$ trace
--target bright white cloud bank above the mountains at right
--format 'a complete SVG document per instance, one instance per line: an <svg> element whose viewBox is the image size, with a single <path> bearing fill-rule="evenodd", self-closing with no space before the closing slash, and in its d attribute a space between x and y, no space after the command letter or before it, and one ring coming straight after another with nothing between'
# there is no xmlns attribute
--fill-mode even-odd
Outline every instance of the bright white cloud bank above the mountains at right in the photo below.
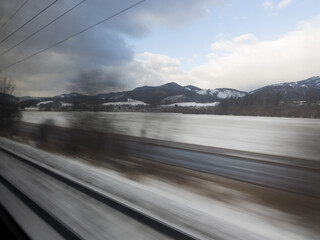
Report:
<svg viewBox="0 0 320 240"><path fill-rule="evenodd" d="M182 70L178 59L144 53L122 68L125 73L122 78L133 86L174 81L202 88L229 87L250 91L268 84L319 75L318 39L320 15L301 22L297 29L273 40L262 41L249 33L214 42L207 63L190 71Z"/></svg>

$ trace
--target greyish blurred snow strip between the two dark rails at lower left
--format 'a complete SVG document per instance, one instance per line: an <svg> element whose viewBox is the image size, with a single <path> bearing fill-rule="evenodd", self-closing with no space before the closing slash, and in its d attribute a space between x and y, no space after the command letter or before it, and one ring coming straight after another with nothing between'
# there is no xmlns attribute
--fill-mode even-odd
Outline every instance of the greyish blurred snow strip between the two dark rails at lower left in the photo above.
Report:
<svg viewBox="0 0 320 240"><path fill-rule="evenodd" d="M0 173L3 177L19 186L33 201L83 239L168 239L41 171L3 153L0 153L0 157Z"/></svg>

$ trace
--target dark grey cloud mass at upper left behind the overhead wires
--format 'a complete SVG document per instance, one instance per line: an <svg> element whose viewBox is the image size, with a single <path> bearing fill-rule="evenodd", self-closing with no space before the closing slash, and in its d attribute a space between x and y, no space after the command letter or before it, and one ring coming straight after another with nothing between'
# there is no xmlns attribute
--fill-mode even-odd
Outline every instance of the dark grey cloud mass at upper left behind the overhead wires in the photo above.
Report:
<svg viewBox="0 0 320 240"><path fill-rule="evenodd" d="M113 74L110 76L119 79L119 81L127 79L120 71L123 66L132 68L134 65L139 65L143 72L146 66L144 67L142 63L138 64L134 60L133 46L128 44L130 39L146 36L155 25L179 28L190 24L208 14L208 5L220 1L146 1L136 8L61 45L6 69L4 74L10 75L16 81L15 94L17 95L44 96L60 94L70 91L70 87L74 86L76 78L90 79L92 76L97 77L98 82L105 81L105 87L102 90L106 91L116 89L116 87L125 89L135 86L134 84L137 83L137 80L123 81L115 86L114 82L110 81L110 78L101 76L102 73L110 73ZM51 2L52 0L29 1L13 21L1 29L1 32L12 32ZM0 53L78 2L79 0L57 1L45 13L0 44ZM65 37L136 2L135 0L86 1L74 11L47 27L45 31L40 32L19 47L1 56L0 68L61 41ZM0 16L4 17L2 21L5 21L16 8L16 1L2 0L0 2ZM152 58L154 61L157 59L151 56L147 58ZM147 63L145 62L145 64ZM158 78L160 79L159 76ZM140 81L143 82L143 79L146 79L146 77L142 77Z"/></svg>

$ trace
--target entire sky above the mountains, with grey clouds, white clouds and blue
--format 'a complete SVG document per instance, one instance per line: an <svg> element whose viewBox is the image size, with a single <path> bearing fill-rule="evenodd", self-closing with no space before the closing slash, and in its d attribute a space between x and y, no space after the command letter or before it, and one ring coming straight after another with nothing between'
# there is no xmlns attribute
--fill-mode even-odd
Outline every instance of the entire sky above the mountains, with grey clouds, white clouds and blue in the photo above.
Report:
<svg viewBox="0 0 320 240"><path fill-rule="evenodd" d="M318 0L146 0L19 62L139 2L85 0L22 41L81 2L29 0L10 19L25 1L0 3L0 69L17 96L168 82L251 91L320 75Z"/></svg>

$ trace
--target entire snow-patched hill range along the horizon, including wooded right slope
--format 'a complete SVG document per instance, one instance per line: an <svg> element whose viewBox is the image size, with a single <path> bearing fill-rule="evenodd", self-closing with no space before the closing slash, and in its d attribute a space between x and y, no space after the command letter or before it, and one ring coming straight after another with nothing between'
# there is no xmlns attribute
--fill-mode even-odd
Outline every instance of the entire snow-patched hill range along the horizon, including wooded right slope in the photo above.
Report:
<svg viewBox="0 0 320 240"><path fill-rule="evenodd" d="M272 84L249 93L231 88L201 89L193 85L180 86L171 82L161 86L143 86L131 91L101 93L95 96L69 93L45 98L22 97L20 107L41 107L41 110L112 111L114 108L110 106L133 106L125 104L129 101L141 102L140 105L144 108L158 105L171 106L170 111L184 113L320 117L320 77ZM193 105L203 106L202 108L207 106L209 109L194 110ZM213 109L215 105L217 106ZM109 108L106 109L106 106ZM134 108L130 108L131 110Z"/></svg>

